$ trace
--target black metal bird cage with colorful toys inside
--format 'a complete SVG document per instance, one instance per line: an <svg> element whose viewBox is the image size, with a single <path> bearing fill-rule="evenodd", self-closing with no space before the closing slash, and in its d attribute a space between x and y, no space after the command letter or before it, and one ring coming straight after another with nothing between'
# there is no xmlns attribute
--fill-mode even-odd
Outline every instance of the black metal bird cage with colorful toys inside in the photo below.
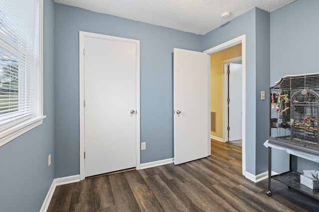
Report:
<svg viewBox="0 0 319 212"><path fill-rule="evenodd" d="M270 88L270 142L318 154L318 109L319 73L281 78Z"/></svg>

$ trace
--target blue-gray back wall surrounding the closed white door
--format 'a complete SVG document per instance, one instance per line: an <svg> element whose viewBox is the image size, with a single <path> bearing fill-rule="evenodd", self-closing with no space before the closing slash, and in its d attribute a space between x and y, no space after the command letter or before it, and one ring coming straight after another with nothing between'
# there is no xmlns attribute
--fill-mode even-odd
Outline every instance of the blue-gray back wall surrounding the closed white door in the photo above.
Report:
<svg viewBox="0 0 319 212"><path fill-rule="evenodd" d="M55 3L55 177L79 174L79 31L140 40L141 163L173 157L173 48L202 36Z"/></svg>

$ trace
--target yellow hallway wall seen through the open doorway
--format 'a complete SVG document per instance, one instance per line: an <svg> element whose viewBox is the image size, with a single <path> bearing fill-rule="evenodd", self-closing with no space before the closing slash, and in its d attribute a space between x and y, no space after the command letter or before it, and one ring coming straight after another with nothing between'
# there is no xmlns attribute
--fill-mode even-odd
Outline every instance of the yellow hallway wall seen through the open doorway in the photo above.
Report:
<svg viewBox="0 0 319 212"><path fill-rule="evenodd" d="M223 61L241 56L241 44L210 55L210 109L216 112L215 132L211 135L223 138Z"/></svg>

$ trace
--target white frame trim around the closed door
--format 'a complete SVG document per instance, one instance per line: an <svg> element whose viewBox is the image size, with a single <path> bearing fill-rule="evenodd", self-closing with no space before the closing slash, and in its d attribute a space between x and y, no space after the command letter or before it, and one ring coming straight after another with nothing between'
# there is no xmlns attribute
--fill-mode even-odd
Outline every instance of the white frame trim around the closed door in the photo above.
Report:
<svg viewBox="0 0 319 212"><path fill-rule="evenodd" d="M84 139L84 38L107 39L120 42L129 42L136 44L136 169L140 169L141 155L141 106L140 106L140 41L122 37L115 37L91 32L79 31L79 117L80 117L80 180L85 179L85 139Z"/></svg>

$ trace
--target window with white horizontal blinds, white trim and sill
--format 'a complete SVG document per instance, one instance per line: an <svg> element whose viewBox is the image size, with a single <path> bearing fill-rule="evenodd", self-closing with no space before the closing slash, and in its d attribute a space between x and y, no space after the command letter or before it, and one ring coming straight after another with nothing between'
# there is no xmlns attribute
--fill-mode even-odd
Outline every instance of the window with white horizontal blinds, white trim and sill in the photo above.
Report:
<svg viewBox="0 0 319 212"><path fill-rule="evenodd" d="M0 146L42 123L43 0L1 0Z"/></svg>

